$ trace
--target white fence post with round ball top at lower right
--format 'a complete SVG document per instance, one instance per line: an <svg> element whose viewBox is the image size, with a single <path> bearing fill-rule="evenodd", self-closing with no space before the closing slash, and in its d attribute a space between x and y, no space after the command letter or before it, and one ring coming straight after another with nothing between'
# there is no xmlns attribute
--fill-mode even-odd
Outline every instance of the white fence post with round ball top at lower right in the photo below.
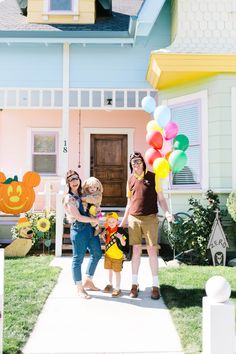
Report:
<svg viewBox="0 0 236 354"><path fill-rule="evenodd" d="M229 300L231 288L226 279L214 276L206 283L202 312L202 353L235 354L235 306Z"/></svg>

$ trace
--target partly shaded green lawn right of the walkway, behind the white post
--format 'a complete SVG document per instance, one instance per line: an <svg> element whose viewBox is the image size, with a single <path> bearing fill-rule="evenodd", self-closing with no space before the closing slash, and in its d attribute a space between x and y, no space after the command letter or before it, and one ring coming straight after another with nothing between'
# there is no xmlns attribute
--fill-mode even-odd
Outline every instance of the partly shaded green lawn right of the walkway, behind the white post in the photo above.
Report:
<svg viewBox="0 0 236 354"><path fill-rule="evenodd" d="M236 305L236 270L230 267L181 266L160 270L161 294L171 311L185 353L202 351L202 297L205 284L221 275L231 285L231 300Z"/></svg>

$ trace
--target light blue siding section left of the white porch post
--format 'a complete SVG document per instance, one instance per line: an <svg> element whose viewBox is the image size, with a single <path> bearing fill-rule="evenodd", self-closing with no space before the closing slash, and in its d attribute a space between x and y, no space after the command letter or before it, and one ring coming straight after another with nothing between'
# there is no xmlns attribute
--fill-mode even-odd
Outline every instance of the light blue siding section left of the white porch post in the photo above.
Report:
<svg viewBox="0 0 236 354"><path fill-rule="evenodd" d="M0 87L61 87L62 45L0 44Z"/></svg>

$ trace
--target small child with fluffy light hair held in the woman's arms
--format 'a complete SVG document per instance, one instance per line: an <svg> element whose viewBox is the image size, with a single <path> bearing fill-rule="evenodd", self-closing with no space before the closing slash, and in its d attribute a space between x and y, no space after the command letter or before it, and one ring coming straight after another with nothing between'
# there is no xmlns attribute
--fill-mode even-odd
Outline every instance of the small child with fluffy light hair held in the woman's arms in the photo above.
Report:
<svg viewBox="0 0 236 354"><path fill-rule="evenodd" d="M95 177L89 177L82 185L82 202L84 210L87 210L89 216L94 218L102 217L101 202L102 202L103 187L101 182ZM94 236L97 236L100 232L100 227L96 223L93 224L95 231Z"/></svg>

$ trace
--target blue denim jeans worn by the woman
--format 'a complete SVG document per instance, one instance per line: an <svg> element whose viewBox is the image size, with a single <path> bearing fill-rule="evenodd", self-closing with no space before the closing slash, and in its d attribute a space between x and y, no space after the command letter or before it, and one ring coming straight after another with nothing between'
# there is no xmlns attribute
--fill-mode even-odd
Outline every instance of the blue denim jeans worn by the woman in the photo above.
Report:
<svg viewBox="0 0 236 354"><path fill-rule="evenodd" d="M74 222L71 225L70 237L73 250L72 276L76 284L82 281L81 266L86 251L90 253L86 275L92 277L102 257L102 250L99 236L94 236L93 228L89 223Z"/></svg>

